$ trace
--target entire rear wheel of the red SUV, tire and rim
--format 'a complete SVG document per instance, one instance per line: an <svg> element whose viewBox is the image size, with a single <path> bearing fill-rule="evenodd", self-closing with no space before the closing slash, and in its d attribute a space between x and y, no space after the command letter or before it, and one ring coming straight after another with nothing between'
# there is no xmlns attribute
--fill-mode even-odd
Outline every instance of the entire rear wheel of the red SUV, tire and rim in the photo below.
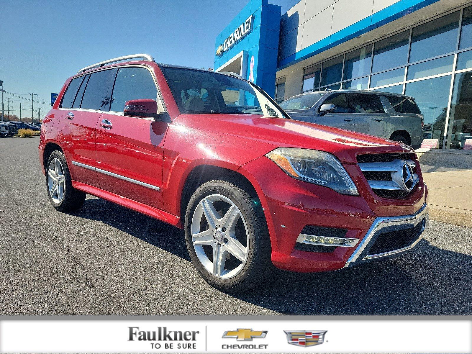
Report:
<svg viewBox="0 0 472 354"><path fill-rule="evenodd" d="M46 187L49 200L58 211L74 211L85 201L85 194L72 186L66 158L59 150L51 153L46 168Z"/></svg>

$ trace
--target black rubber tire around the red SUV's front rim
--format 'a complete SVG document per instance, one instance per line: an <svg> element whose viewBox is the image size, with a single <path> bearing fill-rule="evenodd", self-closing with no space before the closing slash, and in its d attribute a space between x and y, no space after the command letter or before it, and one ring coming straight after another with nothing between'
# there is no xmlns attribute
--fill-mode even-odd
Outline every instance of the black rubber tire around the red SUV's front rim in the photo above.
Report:
<svg viewBox="0 0 472 354"><path fill-rule="evenodd" d="M247 260L242 270L233 278L214 276L202 265L192 243L191 223L196 207L208 195L221 194L236 204L244 217L248 230ZM194 267L203 279L219 290L243 292L260 286L275 268L270 260L271 247L267 222L259 202L239 186L223 180L213 180L201 185L190 198L185 213L185 242Z"/></svg>

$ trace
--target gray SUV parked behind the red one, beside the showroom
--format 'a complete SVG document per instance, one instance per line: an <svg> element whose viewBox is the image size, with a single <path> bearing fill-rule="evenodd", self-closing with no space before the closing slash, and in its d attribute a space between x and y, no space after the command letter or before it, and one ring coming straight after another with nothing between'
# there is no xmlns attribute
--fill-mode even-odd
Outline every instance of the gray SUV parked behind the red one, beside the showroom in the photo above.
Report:
<svg viewBox="0 0 472 354"><path fill-rule="evenodd" d="M423 115L414 99L402 94L316 91L293 96L280 106L296 120L375 135L413 149L423 141Z"/></svg>

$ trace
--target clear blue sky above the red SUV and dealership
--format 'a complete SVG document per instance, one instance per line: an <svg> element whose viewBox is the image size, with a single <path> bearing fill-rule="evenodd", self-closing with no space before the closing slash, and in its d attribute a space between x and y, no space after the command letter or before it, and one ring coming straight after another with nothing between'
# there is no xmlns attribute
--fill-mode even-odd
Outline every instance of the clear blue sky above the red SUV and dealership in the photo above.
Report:
<svg viewBox="0 0 472 354"><path fill-rule="evenodd" d="M269 0L287 12L299 0ZM149 53L158 62L213 67L215 38L247 0L0 1L0 80L11 93L50 101L87 65ZM20 95L31 98L30 96ZM31 102L11 97L10 113L31 117ZM50 106L35 104L44 116ZM27 110L29 109L29 110ZM1 111L1 102L0 102ZM35 113L37 118L37 113Z"/></svg>

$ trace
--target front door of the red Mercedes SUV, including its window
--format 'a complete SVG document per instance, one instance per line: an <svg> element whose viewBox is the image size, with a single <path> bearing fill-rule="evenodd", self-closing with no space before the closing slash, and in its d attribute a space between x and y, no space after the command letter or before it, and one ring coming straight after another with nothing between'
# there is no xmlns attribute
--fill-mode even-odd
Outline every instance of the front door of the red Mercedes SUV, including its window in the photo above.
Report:
<svg viewBox="0 0 472 354"><path fill-rule="evenodd" d="M157 85L145 67L120 67L110 105L97 122L97 173L109 192L163 209L162 163L168 124L152 118L125 117L125 102L158 101Z"/></svg>

